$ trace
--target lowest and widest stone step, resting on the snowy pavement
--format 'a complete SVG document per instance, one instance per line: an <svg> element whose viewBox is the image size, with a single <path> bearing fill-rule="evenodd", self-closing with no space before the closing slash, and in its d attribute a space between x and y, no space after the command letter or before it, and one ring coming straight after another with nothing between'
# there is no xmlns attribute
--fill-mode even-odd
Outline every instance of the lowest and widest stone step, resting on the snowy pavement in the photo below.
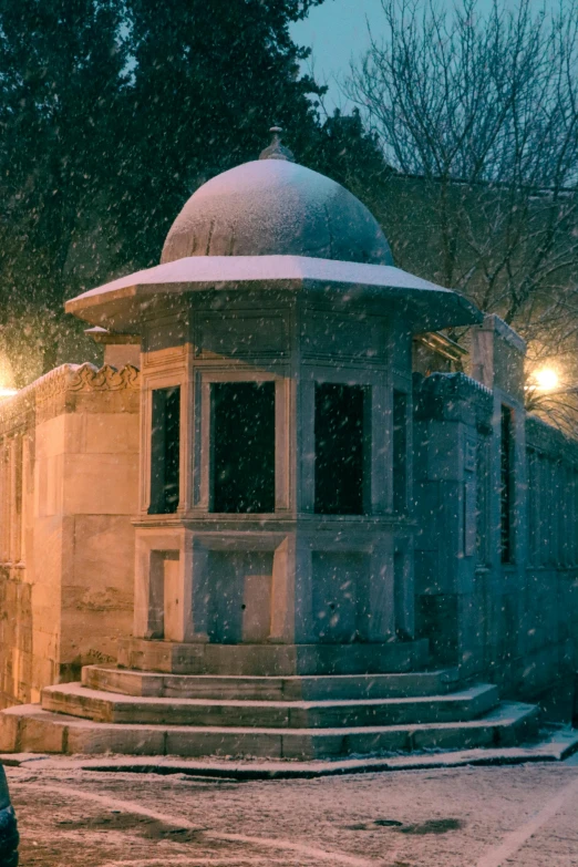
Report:
<svg viewBox="0 0 578 867"><path fill-rule="evenodd" d="M38 704L0 713L0 752L121 755L337 758L421 750L515 746L538 731L538 708L500 702L460 723L344 729L254 729L97 723L43 711Z"/></svg>

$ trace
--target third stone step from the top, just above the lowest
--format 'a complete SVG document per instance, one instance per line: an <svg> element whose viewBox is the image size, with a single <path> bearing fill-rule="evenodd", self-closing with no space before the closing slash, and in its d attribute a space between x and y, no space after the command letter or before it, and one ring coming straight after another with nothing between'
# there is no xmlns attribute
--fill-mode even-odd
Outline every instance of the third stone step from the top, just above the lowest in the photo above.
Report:
<svg viewBox="0 0 578 867"><path fill-rule="evenodd" d="M497 688L489 684L445 695L314 702L120 696L86 689L81 683L47 687L42 691L43 710L94 722L275 729L472 720L495 708L497 702Z"/></svg>

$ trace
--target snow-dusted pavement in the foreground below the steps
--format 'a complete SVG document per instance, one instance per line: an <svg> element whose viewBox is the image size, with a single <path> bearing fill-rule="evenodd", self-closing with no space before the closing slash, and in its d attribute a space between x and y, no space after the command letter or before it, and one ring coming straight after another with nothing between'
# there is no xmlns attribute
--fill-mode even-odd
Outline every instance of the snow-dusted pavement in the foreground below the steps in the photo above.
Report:
<svg viewBox="0 0 578 867"><path fill-rule="evenodd" d="M22 867L570 867L578 756L236 782L7 767Z"/></svg>

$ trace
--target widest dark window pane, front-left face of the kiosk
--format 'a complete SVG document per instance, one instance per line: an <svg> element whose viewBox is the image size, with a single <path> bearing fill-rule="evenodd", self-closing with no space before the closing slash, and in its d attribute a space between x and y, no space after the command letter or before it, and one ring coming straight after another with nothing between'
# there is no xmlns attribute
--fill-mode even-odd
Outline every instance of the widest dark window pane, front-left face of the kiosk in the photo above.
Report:
<svg viewBox="0 0 578 867"><path fill-rule="evenodd" d="M213 512L275 512L275 383L213 385Z"/></svg>

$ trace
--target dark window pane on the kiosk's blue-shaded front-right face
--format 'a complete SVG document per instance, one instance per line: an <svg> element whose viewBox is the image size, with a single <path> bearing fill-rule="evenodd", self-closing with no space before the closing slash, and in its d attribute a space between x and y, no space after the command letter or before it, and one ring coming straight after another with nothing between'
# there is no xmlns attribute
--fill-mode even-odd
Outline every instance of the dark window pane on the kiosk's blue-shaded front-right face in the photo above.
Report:
<svg viewBox="0 0 578 867"><path fill-rule="evenodd" d="M363 514L363 388L316 385L316 513Z"/></svg>

